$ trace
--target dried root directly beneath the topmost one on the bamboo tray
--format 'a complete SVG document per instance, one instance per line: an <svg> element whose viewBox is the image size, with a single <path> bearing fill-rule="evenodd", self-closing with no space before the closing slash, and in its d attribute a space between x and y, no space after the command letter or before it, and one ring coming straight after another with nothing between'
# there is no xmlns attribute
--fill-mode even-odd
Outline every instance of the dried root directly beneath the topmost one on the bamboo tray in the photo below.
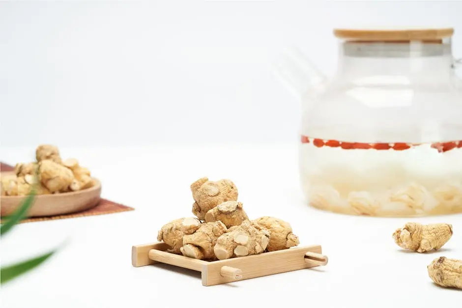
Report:
<svg viewBox="0 0 462 308"><path fill-rule="evenodd" d="M242 222L249 220L242 206L242 202L239 201L225 201L220 203L205 214L205 222L212 223L221 221L227 228L242 224Z"/></svg>

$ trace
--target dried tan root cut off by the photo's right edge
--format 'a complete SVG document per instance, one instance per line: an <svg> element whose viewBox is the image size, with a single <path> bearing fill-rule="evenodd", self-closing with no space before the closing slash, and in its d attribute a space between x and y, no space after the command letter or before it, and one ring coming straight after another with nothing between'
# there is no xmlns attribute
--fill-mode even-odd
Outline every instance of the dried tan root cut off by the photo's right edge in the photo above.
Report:
<svg viewBox="0 0 462 308"><path fill-rule="evenodd" d="M444 256L436 258L427 266L428 275L434 283L449 288L462 289L462 261Z"/></svg>

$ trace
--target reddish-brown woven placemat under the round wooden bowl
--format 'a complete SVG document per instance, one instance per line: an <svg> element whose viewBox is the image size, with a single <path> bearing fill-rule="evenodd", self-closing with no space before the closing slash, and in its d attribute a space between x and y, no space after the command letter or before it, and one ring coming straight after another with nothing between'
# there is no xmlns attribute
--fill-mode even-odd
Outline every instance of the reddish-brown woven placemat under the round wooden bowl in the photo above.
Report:
<svg viewBox="0 0 462 308"><path fill-rule="evenodd" d="M12 171L14 170L14 167L0 162L0 170L1 171ZM55 220L55 219L66 219L66 218L76 218L76 217L84 217L84 216L113 214L113 213L133 211L133 210L134 210L133 207L129 207L129 206L126 206L120 203L116 203L111 200L101 199L98 205L86 211L66 214L66 215L58 215L58 216L32 217L32 218L28 218L28 219L21 221L21 223L32 223L32 222L41 222L41 221Z"/></svg>

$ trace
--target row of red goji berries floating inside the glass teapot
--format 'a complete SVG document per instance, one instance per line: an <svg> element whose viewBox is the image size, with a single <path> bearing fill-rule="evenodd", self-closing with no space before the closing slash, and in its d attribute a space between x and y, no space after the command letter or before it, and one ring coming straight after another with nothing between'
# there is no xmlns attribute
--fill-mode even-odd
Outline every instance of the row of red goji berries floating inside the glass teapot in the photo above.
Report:
<svg viewBox="0 0 462 308"><path fill-rule="evenodd" d="M301 136L302 143L313 143L316 147L341 147L345 150L354 150L354 149L374 149L374 150L394 150L394 151L404 151L411 149L421 143L406 143L406 142L395 142L395 143L364 143L364 142L345 142L339 140L323 140L319 138L311 138L308 136ZM457 141L445 141L445 142L434 142L431 145L433 148L437 149L439 152L444 153L455 148L462 148L462 140Z"/></svg>

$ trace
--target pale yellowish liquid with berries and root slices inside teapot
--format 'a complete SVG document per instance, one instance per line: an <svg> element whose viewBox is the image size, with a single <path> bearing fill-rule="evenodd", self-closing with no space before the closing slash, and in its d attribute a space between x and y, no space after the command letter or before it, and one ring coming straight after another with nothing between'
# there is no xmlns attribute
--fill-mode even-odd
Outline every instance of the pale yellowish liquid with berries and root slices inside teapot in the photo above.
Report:
<svg viewBox="0 0 462 308"><path fill-rule="evenodd" d="M310 205L332 212L413 217L462 212L462 141L342 145L302 137Z"/></svg>

